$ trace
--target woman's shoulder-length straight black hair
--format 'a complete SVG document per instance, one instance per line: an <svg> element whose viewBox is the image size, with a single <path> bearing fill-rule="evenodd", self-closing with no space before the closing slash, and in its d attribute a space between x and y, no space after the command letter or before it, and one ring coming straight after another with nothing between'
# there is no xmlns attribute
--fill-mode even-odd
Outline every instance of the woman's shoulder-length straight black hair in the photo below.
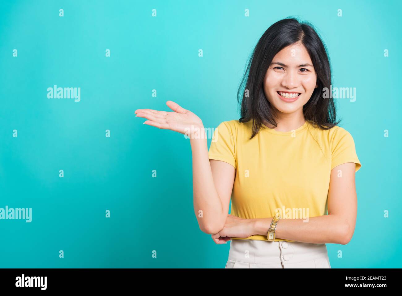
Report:
<svg viewBox="0 0 402 296"><path fill-rule="evenodd" d="M298 41L301 41L310 55L318 83L311 98L303 106L305 119L313 121L321 129L330 129L340 122L336 121L332 96L322 96L324 87L330 89L331 84L331 66L326 46L313 25L291 17L271 25L258 40L238 88L237 98L241 108L239 122L252 120L251 138L258 133L264 121L277 127L271 103L265 97L264 77L274 56L284 47Z"/></svg>

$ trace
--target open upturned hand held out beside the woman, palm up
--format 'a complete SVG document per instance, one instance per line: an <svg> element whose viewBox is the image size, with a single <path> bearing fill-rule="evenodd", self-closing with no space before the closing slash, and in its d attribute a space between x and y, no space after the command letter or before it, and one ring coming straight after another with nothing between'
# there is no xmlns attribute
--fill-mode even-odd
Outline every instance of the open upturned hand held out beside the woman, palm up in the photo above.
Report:
<svg viewBox="0 0 402 296"><path fill-rule="evenodd" d="M170 129L180 134L185 134L191 127L203 127L201 119L193 112L180 107L173 101L167 101L166 105L173 112L158 111L153 109L137 109L135 110L136 117L144 117L144 123L159 127L161 129Z"/></svg>

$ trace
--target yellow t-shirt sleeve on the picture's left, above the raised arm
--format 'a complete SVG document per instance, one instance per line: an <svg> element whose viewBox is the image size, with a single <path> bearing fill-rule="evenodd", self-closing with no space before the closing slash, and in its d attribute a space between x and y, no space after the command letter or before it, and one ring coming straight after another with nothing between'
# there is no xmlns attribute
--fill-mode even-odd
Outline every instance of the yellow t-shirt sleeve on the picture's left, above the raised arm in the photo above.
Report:
<svg viewBox="0 0 402 296"><path fill-rule="evenodd" d="M236 152L232 128L224 121L215 128L208 151L209 159L221 160L236 169Z"/></svg>

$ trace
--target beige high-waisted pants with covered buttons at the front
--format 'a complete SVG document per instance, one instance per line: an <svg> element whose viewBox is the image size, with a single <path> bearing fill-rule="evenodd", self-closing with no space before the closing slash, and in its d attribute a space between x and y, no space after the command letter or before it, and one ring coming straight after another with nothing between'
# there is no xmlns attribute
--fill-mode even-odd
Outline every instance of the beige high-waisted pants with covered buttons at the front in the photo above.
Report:
<svg viewBox="0 0 402 296"><path fill-rule="evenodd" d="M232 239L225 268L331 268L325 244Z"/></svg>

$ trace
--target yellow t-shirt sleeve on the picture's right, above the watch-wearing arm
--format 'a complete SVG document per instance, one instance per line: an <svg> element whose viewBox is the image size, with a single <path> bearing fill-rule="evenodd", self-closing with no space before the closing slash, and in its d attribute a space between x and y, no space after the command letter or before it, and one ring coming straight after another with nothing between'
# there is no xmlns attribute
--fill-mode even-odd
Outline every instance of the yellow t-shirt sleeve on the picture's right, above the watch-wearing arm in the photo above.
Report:
<svg viewBox="0 0 402 296"><path fill-rule="evenodd" d="M361 168L359 158L357 158L355 141L352 135L343 127L339 127L332 140L332 162L331 170L346 162L354 162L356 164L355 172Z"/></svg>

